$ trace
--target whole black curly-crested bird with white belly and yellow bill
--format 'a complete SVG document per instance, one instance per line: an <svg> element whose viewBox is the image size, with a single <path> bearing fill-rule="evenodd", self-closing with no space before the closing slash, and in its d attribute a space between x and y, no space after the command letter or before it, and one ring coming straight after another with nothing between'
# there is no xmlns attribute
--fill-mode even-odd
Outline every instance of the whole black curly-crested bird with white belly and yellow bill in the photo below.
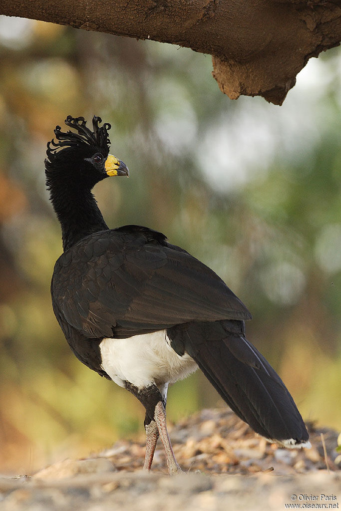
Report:
<svg viewBox="0 0 341 511"><path fill-rule="evenodd" d="M51 283L53 310L76 357L136 396L146 409L150 469L161 436L168 470L180 470L166 427L168 385L197 367L257 433L285 447L309 435L287 388L246 339L251 314L210 268L166 236L138 225L109 229L91 192L128 176L109 153L109 124L69 115L54 130L47 187L61 224L63 253Z"/></svg>

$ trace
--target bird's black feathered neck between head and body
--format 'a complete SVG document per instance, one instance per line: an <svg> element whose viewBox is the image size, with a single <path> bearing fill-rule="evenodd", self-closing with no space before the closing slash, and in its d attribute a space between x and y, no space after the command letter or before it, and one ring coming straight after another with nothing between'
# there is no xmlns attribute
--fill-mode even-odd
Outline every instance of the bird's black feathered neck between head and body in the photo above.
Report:
<svg viewBox="0 0 341 511"><path fill-rule="evenodd" d="M58 188L50 188L50 198L61 225L64 252L85 236L109 228L90 190L74 185Z"/></svg>

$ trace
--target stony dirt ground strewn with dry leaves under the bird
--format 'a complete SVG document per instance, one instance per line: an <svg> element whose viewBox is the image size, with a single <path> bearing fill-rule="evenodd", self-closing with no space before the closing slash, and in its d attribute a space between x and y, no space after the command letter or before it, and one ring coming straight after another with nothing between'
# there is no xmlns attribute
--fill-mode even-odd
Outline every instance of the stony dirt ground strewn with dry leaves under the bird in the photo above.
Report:
<svg viewBox="0 0 341 511"><path fill-rule="evenodd" d="M168 476L161 446L152 471L143 472L144 439L121 440L87 459L66 459L30 476L0 478L0 509L337 509L337 433L312 424L308 429L310 450L285 450L266 443L228 409L202 410L170 428L184 474Z"/></svg>

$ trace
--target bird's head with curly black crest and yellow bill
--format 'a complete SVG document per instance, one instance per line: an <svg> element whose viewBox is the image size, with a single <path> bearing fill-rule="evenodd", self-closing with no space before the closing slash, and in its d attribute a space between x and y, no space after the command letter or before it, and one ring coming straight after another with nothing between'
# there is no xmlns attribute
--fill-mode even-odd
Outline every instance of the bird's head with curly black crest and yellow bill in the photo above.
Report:
<svg viewBox="0 0 341 511"><path fill-rule="evenodd" d="M48 143L45 160L47 185L51 187L55 179L64 184L75 183L91 190L94 185L109 176L129 176L123 161L109 154L110 124L102 126L100 117L93 118L93 129L86 126L83 117L68 115L65 124L72 128L66 133L60 126L54 130L56 141Z"/></svg>

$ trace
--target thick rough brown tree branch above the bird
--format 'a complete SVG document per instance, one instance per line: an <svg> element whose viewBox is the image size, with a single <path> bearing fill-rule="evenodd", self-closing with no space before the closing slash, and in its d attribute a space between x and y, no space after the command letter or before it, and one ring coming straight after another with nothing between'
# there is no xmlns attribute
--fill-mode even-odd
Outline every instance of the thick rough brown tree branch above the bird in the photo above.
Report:
<svg viewBox="0 0 341 511"><path fill-rule="evenodd" d="M310 57L341 40L340 0L6 0L0 14L168 42L212 55L231 99L282 104Z"/></svg>

